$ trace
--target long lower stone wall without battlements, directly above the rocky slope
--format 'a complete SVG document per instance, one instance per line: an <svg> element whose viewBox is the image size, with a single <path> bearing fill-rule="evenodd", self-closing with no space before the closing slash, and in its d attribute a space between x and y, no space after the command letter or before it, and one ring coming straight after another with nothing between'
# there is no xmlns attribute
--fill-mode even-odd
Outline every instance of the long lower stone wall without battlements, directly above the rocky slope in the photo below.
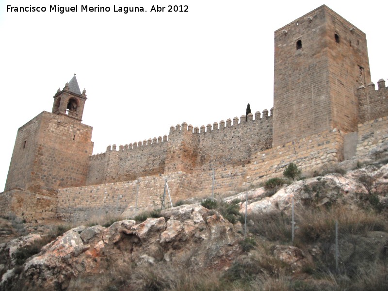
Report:
<svg viewBox="0 0 388 291"><path fill-rule="evenodd" d="M328 131L275 149L256 152L249 164L216 167L215 193L230 193L239 187L258 184L272 176L281 176L284 167L290 162L297 163L302 170L338 162L341 160L341 149L341 133ZM173 203L211 194L211 171L197 169L193 174L178 171L133 181L59 189L58 215L65 221L79 222L123 212L129 217L144 210L160 208L165 178L168 179ZM165 205L170 205L168 196Z"/></svg>

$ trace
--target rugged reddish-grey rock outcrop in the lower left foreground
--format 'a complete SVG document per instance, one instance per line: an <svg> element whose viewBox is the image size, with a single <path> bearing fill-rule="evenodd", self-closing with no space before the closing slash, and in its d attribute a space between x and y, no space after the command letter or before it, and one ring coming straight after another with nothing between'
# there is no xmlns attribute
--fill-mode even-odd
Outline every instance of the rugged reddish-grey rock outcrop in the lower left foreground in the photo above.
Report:
<svg viewBox="0 0 388 291"><path fill-rule="evenodd" d="M168 264L193 271L224 269L240 253L241 236L216 211L182 205L161 214L140 224L123 220L109 227L72 228L28 259L22 270L10 269L0 287L15 288L11 284L19 279L26 290L100 290L98 279L86 284L85 278Z"/></svg>

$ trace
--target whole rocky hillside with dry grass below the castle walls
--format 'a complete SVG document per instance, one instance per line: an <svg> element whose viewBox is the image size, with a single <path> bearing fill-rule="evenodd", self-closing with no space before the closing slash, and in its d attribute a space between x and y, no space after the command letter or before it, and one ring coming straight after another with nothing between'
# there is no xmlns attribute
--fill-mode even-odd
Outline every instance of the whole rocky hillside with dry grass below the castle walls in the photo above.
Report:
<svg viewBox="0 0 388 291"><path fill-rule="evenodd" d="M0 289L388 290L388 164L344 166L143 222L65 231L3 219Z"/></svg>

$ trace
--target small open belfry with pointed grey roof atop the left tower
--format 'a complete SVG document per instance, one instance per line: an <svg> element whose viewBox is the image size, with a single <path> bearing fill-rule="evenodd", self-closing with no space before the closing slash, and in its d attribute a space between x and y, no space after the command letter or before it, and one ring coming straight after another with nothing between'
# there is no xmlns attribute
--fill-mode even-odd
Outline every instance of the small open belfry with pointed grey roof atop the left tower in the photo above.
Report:
<svg viewBox="0 0 388 291"><path fill-rule="evenodd" d="M86 99L86 91L83 90L81 93L76 74L74 74L70 82L65 84L65 88L63 90L58 89L57 94L54 95L54 104L51 112L82 121Z"/></svg>

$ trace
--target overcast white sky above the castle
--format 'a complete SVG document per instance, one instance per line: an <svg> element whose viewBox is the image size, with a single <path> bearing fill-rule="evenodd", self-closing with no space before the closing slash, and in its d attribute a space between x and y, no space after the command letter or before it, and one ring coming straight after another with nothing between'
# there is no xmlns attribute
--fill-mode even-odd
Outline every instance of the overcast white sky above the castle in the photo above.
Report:
<svg viewBox="0 0 388 291"><path fill-rule="evenodd" d="M265 4L264 4L265 3ZM362 4L361 4L362 3ZM274 31L326 4L367 34L372 81L388 78L388 1L0 0L0 191L17 129L74 73L94 153L273 106ZM12 6L77 13L10 13ZM81 5L111 12L80 12ZM186 13L120 13L113 5L188 5Z"/></svg>

